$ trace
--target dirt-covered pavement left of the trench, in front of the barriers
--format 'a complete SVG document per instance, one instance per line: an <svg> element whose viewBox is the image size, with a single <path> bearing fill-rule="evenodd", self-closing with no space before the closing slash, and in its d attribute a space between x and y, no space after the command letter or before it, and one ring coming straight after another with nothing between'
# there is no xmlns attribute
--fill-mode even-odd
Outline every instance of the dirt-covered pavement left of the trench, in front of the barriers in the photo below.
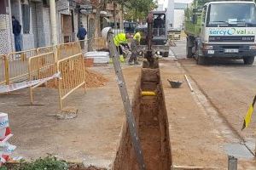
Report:
<svg viewBox="0 0 256 170"><path fill-rule="evenodd" d="M57 120L59 112L58 91L54 88L37 88L35 103L41 106L20 106L29 103L28 89L20 94L1 95L0 108L9 114L10 127L17 146L14 156L36 159L52 154L67 161L94 161L108 166L113 161L119 142L119 133L125 112L113 65L95 67L101 70L108 83L102 88L78 89L67 97L66 106L79 109L78 117ZM129 94L132 94L138 67L124 70Z"/></svg>

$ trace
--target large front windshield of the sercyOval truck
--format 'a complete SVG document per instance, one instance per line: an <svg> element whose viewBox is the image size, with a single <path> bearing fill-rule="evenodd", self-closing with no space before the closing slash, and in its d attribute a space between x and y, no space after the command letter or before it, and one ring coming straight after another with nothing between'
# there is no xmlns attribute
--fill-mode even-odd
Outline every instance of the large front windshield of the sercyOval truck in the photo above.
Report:
<svg viewBox="0 0 256 170"><path fill-rule="evenodd" d="M210 4L207 26L256 26L256 11L253 3Z"/></svg>

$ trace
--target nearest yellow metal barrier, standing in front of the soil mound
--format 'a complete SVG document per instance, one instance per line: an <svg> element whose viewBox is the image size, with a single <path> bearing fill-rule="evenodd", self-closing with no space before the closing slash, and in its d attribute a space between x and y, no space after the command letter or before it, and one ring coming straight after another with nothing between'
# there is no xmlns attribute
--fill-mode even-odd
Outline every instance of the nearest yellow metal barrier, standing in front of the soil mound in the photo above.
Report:
<svg viewBox="0 0 256 170"><path fill-rule="evenodd" d="M57 71L61 72L59 79L60 107L69 94L84 85L85 92L85 67L83 54L75 54L57 62Z"/></svg>

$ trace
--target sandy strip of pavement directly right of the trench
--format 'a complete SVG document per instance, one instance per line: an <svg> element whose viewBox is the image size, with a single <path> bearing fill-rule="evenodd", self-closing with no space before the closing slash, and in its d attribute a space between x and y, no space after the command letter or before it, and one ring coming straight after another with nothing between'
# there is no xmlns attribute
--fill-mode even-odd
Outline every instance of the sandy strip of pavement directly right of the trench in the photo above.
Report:
<svg viewBox="0 0 256 170"><path fill-rule="evenodd" d="M224 144L235 141L219 132L201 99L191 93L184 79L186 74L177 61L160 62L161 80L166 99L172 162L176 166L227 169L228 156ZM173 77L176 76L176 77ZM183 81L181 88L171 88L167 78ZM192 84L193 85L193 84ZM209 108L211 109L211 108ZM250 160L239 159L238 169L253 169Z"/></svg>

